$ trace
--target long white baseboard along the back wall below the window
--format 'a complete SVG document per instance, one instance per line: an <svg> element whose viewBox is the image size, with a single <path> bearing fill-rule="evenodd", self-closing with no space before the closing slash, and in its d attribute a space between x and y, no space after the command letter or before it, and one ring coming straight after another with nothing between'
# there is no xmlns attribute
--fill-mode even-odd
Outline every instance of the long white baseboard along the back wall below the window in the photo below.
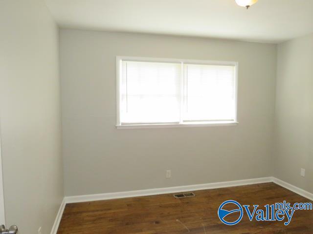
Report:
<svg viewBox="0 0 313 234"><path fill-rule="evenodd" d="M181 193L187 191L197 191L205 189L217 189L225 187L234 187L249 184L260 184L272 182L272 177L255 178L255 179L244 179L235 180L227 182L217 182L208 184L197 184L197 185L187 185L169 188L158 188L158 189L146 189L146 190L136 190L128 192L117 192L117 193L107 193L107 194L94 194L94 195L80 195L80 196L66 196L66 203L76 203L76 202L86 202L86 201L97 201L97 200L109 200L116 198L126 198L134 196L148 196L148 195L160 195L160 194L172 194Z"/></svg>

